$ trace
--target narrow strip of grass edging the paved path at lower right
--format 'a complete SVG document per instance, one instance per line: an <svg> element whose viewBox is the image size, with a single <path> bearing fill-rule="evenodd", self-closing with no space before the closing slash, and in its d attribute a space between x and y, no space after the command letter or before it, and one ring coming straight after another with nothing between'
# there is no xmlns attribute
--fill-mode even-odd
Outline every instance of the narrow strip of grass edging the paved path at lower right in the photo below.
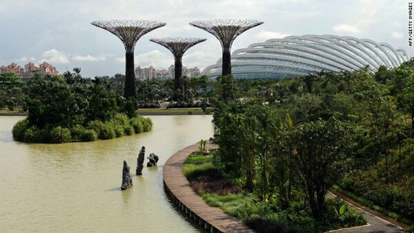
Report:
<svg viewBox="0 0 414 233"><path fill-rule="evenodd" d="M380 205L375 205L372 201L369 201L367 199L364 199L361 196L357 196L356 194L354 194L353 192L349 192L348 190L344 190L341 187L339 187L339 185L333 185L332 187L334 190L337 190L338 192L341 192L342 194L350 197L351 199L354 199L355 201L358 201L359 203L362 203L362 205L366 205L368 207L370 207L371 209L380 212L382 214L385 214L386 216L389 216L393 219L396 219L397 221L401 221L402 223L405 223L407 225L413 225L414 222L411 221L410 219L405 218L404 216L397 214L395 212L392 212L390 210L387 210L384 207L381 207Z"/></svg>

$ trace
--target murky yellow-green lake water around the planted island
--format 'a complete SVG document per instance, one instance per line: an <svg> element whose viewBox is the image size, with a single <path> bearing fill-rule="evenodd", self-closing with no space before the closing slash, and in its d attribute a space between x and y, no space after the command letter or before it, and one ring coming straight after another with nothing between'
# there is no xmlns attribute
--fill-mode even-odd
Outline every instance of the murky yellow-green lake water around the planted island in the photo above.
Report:
<svg viewBox="0 0 414 233"><path fill-rule="evenodd" d="M213 136L212 117L150 118L153 130L134 136L27 144L11 133L23 117L0 117L0 232L200 232L166 197L162 168L177 150ZM135 176L142 145L160 160ZM133 187L121 191L124 160Z"/></svg>

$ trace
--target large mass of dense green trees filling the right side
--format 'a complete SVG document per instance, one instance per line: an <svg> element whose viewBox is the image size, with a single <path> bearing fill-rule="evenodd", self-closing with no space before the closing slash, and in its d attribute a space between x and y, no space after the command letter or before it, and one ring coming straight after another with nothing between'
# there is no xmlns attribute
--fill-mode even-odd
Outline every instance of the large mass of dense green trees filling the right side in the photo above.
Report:
<svg viewBox="0 0 414 233"><path fill-rule="evenodd" d="M236 101L215 103L215 164L275 212L302 203L302 218L322 223L338 183L409 223L413 88L413 60L375 74L237 81Z"/></svg>

